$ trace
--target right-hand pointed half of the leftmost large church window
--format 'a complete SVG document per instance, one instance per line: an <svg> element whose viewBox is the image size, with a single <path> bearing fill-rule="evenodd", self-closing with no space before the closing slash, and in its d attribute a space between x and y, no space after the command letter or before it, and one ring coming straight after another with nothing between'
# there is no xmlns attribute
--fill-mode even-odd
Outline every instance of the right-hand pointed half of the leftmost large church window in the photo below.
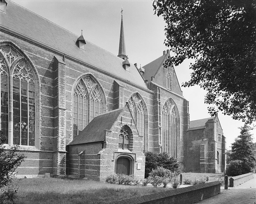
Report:
<svg viewBox="0 0 256 204"><path fill-rule="evenodd" d="M13 144L35 145L35 83L25 60L13 70Z"/></svg>

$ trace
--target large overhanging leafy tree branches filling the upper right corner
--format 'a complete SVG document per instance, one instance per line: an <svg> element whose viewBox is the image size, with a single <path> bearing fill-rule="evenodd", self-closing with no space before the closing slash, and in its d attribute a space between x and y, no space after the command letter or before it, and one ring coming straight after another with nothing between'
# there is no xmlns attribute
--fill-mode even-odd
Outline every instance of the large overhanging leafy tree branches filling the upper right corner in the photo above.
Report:
<svg viewBox="0 0 256 204"><path fill-rule="evenodd" d="M207 91L205 103L247 123L256 120L256 8L254 0L154 0L163 16L165 45L174 52L165 66L186 58L191 79Z"/></svg>

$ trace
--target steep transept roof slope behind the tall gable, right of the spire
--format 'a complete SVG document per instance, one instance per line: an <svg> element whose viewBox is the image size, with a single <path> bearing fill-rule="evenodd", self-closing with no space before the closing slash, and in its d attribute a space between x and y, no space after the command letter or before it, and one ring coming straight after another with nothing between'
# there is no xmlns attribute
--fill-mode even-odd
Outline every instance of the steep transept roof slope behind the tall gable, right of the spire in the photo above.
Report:
<svg viewBox="0 0 256 204"><path fill-rule="evenodd" d="M165 57L167 54L158 57L156 60L148 63L147 65L143 66L145 72L143 77L148 82L151 82L151 77L155 77L157 70L162 66L164 63Z"/></svg>

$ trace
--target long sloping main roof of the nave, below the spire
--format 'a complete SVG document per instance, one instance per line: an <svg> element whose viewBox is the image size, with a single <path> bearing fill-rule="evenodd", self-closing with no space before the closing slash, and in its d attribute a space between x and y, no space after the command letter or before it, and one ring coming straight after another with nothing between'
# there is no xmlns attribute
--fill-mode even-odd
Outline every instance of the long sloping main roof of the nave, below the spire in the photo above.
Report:
<svg viewBox="0 0 256 204"><path fill-rule="evenodd" d="M76 45L76 40L79 36L12 1L6 0L6 2L8 3L6 13L0 12L0 27L3 26L5 30L10 29L10 31L13 30L23 34L88 64L147 88L138 69L133 64L131 64L129 71L126 71L122 66L123 59L90 43L86 39L85 50L80 49Z"/></svg>

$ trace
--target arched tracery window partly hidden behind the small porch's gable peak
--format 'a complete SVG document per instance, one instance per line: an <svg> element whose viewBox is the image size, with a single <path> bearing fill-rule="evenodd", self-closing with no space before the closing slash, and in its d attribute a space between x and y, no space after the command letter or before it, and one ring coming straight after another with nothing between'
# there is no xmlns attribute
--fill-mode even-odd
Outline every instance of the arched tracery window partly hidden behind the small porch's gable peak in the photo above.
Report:
<svg viewBox="0 0 256 204"><path fill-rule="evenodd" d="M143 152L145 151L145 108L138 94L133 95L129 101L129 108L136 123L140 136L143 136Z"/></svg>

